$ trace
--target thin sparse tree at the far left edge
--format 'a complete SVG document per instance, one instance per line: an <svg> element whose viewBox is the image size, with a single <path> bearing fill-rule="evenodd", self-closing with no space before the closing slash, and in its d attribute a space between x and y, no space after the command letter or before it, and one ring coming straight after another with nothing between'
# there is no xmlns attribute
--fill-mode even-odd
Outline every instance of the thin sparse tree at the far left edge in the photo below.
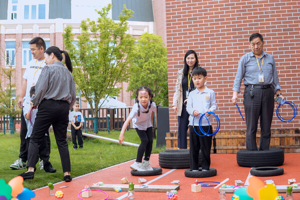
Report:
<svg viewBox="0 0 300 200"><path fill-rule="evenodd" d="M18 46L15 48L15 53L18 49ZM1 50L3 58L4 58L4 66L0 67L0 74L2 79L0 79L0 83L3 79L7 79L8 83L5 85L6 89L0 87L0 115L9 116L9 128L10 133L14 133L14 117L21 112L20 108L17 106L18 96L15 96L15 83L12 83L12 75L14 68L12 68L12 63L14 60L15 53L8 57L7 54L3 50Z"/></svg>

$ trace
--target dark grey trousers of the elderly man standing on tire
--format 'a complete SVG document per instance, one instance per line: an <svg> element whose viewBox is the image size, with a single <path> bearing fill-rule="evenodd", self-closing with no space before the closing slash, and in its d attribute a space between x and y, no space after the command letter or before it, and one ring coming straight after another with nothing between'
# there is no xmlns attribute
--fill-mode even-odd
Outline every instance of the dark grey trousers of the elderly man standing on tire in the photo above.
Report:
<svg viewBox="0 0 300 200"><path fill-rule="evenodd" d="M254 96L249 94L250 87L244 90L244 108L246 116L246 148L257 150L256 131L258 118L260 118L259 150L268 150L271 137L271 123L274 111L273 88L254 88Z"/></svg>

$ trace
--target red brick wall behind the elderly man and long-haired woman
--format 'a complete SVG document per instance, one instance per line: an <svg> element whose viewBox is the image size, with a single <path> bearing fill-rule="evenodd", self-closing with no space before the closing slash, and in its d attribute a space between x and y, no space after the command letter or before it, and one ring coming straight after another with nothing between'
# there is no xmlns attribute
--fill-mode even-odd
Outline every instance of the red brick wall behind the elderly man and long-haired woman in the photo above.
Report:
<svg viewBox="0 0 300 200"><path fill-rule="evenodd" d="M176 72L183 67L188 49L197 52L201 66L208 72L207 85L216 92L220 129L245 129L231 102L232 85L238 60L250 51L248 38L254 32L264 36L264 51L275 58L283 95L299 107L300 1L165 0L165 10L170 131L177 130L177 117L171 109ZM238 95L238 105L245 116L242 94ZM283 111L286 118L292 114L290 108ZM274 109L272 128L299 126L299 111L292 121L284 123Z"/></svg>

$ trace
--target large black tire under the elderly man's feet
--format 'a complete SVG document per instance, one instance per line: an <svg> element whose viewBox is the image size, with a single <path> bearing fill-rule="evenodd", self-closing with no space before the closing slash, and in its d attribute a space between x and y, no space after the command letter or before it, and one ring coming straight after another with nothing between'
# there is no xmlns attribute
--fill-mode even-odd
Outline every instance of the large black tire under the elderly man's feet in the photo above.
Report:
<svg viewBox="0 0 300 200"><path fill-rule="evenodd" d="M236 162L239 166L260 167L279 166L284 162L284 152L280 148L269 150L241 149L236 153Z"/></svg>

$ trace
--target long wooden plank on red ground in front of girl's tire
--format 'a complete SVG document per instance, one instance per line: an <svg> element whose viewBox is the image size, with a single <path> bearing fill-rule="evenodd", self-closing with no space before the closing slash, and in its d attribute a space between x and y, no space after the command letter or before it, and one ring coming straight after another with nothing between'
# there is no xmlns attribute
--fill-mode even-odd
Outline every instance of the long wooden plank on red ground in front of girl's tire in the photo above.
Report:
<svg viewBox="0 0 300 200"><path fill-rule="evenodd" d="M128 191L128 184L103 184L103 185L92 185L91 189L100 189L103 191L114 191L115 187L119 187L122 191ZM134 185L134 191L147 191L147 192L167 192L170 190L178 190L179 185Z"/></svg>

